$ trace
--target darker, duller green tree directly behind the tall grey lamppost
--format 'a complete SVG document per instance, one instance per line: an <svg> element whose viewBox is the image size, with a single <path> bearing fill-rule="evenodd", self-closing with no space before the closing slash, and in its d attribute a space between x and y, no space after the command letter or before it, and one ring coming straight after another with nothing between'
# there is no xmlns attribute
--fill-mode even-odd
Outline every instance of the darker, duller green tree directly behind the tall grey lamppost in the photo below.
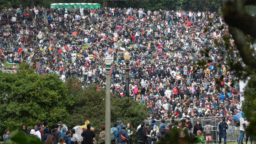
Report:
<svg viewBox="0 0 256 144"><path fill-rule="evenodd" d="M70 128L78 125L84 125L89 120L92 127L95 128L96 138L100 133L100 127L105 125L105 89L96 91L97 85L89 85L82 88L81 84L75 79L67 80L68 95L73 97L75 102L68 108L69 121L66 121ZM142 120L145 120L149 114L149 109L145 105L140 105L137 101L128 98L116 98L111 95L111 122L117 120L124 121L124 124L131 123L134 127L134 142L137 143L135 129ZM111 125L113 127L113 125Z"/></svg>

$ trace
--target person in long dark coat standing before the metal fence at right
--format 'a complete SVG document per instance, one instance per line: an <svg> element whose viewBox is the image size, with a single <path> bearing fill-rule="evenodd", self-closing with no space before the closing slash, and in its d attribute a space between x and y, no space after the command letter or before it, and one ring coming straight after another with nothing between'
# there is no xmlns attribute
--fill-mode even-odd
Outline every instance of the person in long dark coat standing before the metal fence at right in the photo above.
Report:
<svg viewBox="0 0 256 144"><path fill-rule="evenodd" d="M227 143L227 129L228 123L225 122L225 117L221 117L222 122L218 124L218 132L219 132L219 144L221 143L221 138L224 138L224 144Z"/></svg>

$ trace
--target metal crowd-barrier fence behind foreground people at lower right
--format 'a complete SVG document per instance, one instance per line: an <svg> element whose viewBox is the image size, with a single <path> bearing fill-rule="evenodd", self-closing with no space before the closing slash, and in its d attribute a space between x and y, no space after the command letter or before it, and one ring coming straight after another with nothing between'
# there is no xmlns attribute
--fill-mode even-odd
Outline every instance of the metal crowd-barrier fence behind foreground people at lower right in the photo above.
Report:
<svg viewBox="0 0 256 144"><path fill-rule="evenodd" d="M206 140L206 136L211 136L211 143L218 143L219 141L219 133L218 133L218 124L219 122L221 122L221 117L222 116L219 116L219 117L202 117L202 118L190 118L190 122L192 123L193 127L194 125L196 125L196 122L199 121L200 124L202 125L203 127L203 133L204 133L204 137L205 137L205 140ZM238 138L240 136L240 132L239 132L239 127L236 127L235 126L235 123L233 120L231 120L231 117L233 116L225 116L226 119L228 120L228 129L227 129L227 142L238 142ZM178 123L180 124L180 121L182 119L175 119L175 121L178 121ZM158 126L160 126L161 124L161 121L160 120L155 120L156 124ZM152 120L145 120L145 123L147 124L151 124L152 123ZM165 124L168 124L168 123L171 123L171 120L170 119L167 119L165 120ZM205 131L205 126L207 125L207 123L209 125L212 126L212 130L209 132L209 131ZM192 132L193 132L193 128L190 129ZM244 141L245 141L245 137L244 136ZM224 141L224 139L222 138L222 142Z"/></svg>

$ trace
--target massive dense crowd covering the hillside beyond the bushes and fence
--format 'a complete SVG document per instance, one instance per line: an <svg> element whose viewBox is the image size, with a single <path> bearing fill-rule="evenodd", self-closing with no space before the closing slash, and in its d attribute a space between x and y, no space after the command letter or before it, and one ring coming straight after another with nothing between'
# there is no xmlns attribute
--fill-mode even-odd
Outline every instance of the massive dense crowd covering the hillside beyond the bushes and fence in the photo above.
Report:
<svg viewBox="0 0 256 144"><path fill-rule="evenodd" d="M229 34L228 26L216 12L20 5L2 9L0 18L0 68L28 63L39 75L55 73L63 82L77 77L84 86L95 83L102 89L104 58L110 55L111 92L122 98L125 48L131 54L129 97L148 106L149 119L241 111L239 82L225 59L230 55L222 36ZM205 48L208 57L200 52ZM194 69L199 60L210 62Z"/></svg>

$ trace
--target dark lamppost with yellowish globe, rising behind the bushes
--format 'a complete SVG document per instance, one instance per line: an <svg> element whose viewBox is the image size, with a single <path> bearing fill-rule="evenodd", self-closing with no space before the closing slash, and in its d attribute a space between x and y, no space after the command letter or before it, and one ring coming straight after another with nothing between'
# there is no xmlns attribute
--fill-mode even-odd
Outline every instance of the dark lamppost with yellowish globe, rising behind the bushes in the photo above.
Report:
<svg viewBox="0 0 256 144"><path fill-rule="evenodd" d="M131 54L126 51L124 53L124 60L125 60L125 95L126 97L128 97L130 99L130 95L129 95L129 61L130 61L130 58L131 58Z"/></svg>

